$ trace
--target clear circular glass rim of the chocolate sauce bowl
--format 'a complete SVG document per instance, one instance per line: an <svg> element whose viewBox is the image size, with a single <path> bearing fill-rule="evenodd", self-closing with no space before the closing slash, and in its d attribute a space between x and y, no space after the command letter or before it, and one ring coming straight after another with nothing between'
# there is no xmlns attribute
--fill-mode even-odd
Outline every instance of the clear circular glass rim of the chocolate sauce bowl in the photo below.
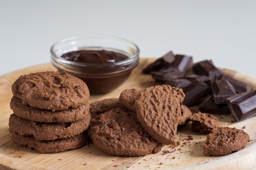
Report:
<svg viewBox="0 0 256 170"><path fill-rule="evenodd" d="M135 47L136 52L128 59L124 59L124 60L116 61L116 62L112 62L112 63L83 63L83 62L70 61L70 60L63 59L62 57L57 56L54 52L54 47L59 43L63 43L65 41L72 41L75 39L87 38L87 37L104 37L104 38L109 38L109 39L118 39L121 41L126 41L127 43L130 43L132 46ZM104 48L104 49L108 49L108 48ZM116 51L121 51L121 50L118 50L118 48L117 49L111 48L111 49L116 50ZM129 41L127 39L117 37L117 36L101 35L101 34L88 34L88 35L77 35L77 36L67 37L67 38L61 39L59 41L56 41L50 48L51 59L54 60L54 62L63 64L63 65L90 66L90 67L99 66L99 65L101 65L101 66L125 65L128 63L132 63L133 61L137 61L139 59L139 52L140 52L139 47L132 41Z"/></svg>

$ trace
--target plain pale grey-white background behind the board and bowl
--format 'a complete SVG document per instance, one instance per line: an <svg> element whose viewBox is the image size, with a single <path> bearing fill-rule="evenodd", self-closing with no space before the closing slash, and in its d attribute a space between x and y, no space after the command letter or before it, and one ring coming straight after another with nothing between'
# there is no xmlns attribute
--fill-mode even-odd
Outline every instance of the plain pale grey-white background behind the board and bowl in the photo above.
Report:
<svg viewBox="0 0 256 170"><path fill-rule="evenodd" d="M52 44L84 34L256 77L256 0L0 0L0 75L48 63Z"/></svg>

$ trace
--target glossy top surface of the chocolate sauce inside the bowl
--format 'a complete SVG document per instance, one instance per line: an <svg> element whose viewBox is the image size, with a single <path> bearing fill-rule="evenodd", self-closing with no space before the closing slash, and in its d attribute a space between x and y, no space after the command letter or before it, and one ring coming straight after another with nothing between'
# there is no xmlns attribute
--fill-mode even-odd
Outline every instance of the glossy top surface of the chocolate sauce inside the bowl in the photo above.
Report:
<svg viewBox="0 0 256 170"><path fill-rule="evenodd" d="M63 54L61 57L79 63L114 63L128 58L123 54L106 50L72 51Z"/></svg>

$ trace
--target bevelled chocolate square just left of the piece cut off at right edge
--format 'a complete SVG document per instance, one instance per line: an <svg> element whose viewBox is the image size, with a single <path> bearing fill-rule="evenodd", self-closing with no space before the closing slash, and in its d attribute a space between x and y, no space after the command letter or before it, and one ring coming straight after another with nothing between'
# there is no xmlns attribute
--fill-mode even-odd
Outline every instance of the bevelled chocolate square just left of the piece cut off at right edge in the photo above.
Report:
<svg viewBox="0 0 256 170"><path fill-rule="evenodd" d="M224 79L214 81L211 90L216 104L226 104L226 98L236 94L233 85Z"/></svg>

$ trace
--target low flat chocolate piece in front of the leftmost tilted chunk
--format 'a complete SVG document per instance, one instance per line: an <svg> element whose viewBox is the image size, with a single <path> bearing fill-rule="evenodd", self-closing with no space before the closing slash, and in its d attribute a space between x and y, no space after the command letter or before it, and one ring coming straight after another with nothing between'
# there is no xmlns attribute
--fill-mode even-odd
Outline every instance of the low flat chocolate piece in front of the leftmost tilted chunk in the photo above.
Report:
<svg viewBox="0 0 256 170"><path fill-rule="evenodd" d="M158 81L158 82L165 82L165 81L171 81L173 79L182 78L185 75L185 72L162 72L162 71L155 71L150 72L152 77Z"/></svg>

